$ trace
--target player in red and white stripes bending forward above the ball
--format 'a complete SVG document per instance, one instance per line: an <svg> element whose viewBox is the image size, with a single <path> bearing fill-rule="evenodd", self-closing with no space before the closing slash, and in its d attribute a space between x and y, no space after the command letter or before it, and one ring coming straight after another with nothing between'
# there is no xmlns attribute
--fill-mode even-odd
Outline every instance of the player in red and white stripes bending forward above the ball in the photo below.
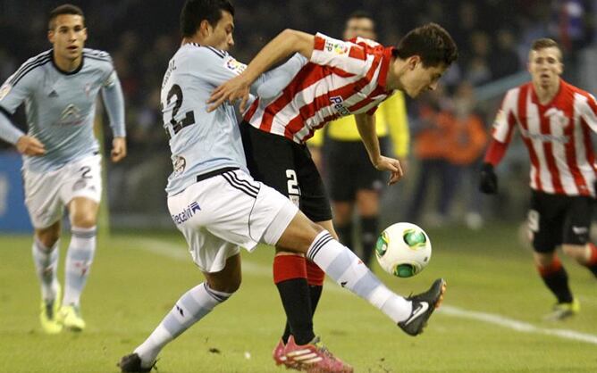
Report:
<svg viewBox="0 0 597 373"><path fill-rule="evenodd" d="M336 236L330 202L305 141L328 121L357 114L359 134L373 166L391 171L389 183L397 182L402 177L399 161L381 154L376 136L377 105L396 89L416 97L435 88L458 52L448 32L433 23L411 30L397 47L360 37L343 41L287 29L265 46L238 78L218 87L210 100L217 106L240 98L242 110L248 99L247 87L259 71L295 53L308 61L290 84L273 95L260 93L245 112L240 131L248 170L257 180L289 196L310 220ZM267 82L259 91L266 89ZM324 274L304 256L277 249L273 278L289 323L274 351L274 359L281 362L281 352L288 352L283 343L290 330L299 345L315 337L312 314ZM288 353L286 357L290 359Z"/></svg>

